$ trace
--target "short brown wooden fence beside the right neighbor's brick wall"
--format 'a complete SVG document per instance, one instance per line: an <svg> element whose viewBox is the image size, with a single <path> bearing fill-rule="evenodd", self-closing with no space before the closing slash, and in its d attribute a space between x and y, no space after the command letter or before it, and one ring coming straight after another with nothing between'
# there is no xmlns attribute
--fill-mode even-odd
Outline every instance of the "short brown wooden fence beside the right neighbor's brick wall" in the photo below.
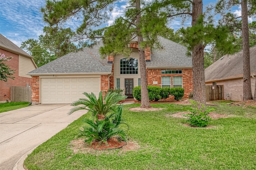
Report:
<svg viewBox="0 0 256 170"><path fill-rule="evenodd" d="M224 99L223 85L207 85L206 86L206 101Z"/></svg>

